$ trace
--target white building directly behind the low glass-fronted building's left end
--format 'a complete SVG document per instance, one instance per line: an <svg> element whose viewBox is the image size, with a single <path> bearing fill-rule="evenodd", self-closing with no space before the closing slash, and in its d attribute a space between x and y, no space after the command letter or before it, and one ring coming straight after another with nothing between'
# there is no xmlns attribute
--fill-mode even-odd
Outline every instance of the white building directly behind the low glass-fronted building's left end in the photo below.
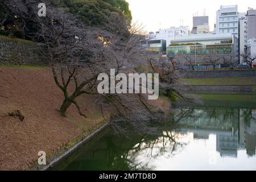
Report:
<svg viewBox="0 0 256 182"><path fill-rule="evenodd" d="M187 36L189 34L188 26L180 26L180 27L170 27L166 29L159 30L156 34L151 34L149 39L166 40L166 44L169 45L171 40L175 40L176 37L179 36Z"/></svg>

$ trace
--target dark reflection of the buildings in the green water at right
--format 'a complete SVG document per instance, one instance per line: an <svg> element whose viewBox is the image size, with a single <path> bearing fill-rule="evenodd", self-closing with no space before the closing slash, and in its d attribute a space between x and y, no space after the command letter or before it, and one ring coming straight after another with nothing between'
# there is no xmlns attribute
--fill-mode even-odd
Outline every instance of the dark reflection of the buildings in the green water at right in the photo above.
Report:
<svg viewBox="0 0 256 182"><path fill-rule="evenodd" d="M255 155L256 110L207 108L195 109L192 115L179 121L181 133L192 132L194 139L209 139L216 135L216 151L221 157L237 157L237 151L246 149Z"/></svg>

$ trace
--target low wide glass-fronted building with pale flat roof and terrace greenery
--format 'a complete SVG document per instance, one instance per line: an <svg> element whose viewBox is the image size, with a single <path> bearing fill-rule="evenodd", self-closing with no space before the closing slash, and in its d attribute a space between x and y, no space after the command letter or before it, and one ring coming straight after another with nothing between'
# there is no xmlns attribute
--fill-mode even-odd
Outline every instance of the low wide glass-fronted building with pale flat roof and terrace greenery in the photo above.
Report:
<svg viewBox="0 0 256 182"><path fill-rule="evenodd" d="M206 60L209 59L218 60L216 65L220 65L223 59L232 58L232 62L238 64L239 43L238 38L231 34L197 34L173 40L166 52L176 56L184 68L189 65L188 61L208 67L210 63Z"/></svg>

